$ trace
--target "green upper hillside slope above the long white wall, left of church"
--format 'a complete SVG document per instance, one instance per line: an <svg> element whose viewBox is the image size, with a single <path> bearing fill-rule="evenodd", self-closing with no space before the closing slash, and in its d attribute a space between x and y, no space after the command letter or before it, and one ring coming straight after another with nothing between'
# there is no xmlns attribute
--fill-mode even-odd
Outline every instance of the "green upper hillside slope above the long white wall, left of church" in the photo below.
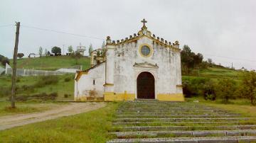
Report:
<svg viewBox="0 0 256 143"><path fill-rule="evenodd" d="M10 64L12 66L12 59ZM50 57L36 57L36 58L22 58L17 60L17 67L24 69L41 69L41 70L56 70L60 68L73 67L75 65L82 65L82 69L90 67L90 58L81 57L76 60L70 56L50 56Z"/></svg>

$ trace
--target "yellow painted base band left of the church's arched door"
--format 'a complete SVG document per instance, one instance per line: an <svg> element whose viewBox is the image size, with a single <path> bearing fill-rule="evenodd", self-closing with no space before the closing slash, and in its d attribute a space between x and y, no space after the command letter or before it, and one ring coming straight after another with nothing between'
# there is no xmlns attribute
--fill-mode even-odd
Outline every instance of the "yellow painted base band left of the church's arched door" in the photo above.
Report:
<svg viewBox="0 0 256 143"><path fill-rule="evenodd" d="M114 93L114 92L105 92L104 101L134 101L134 93Z"/></svg>

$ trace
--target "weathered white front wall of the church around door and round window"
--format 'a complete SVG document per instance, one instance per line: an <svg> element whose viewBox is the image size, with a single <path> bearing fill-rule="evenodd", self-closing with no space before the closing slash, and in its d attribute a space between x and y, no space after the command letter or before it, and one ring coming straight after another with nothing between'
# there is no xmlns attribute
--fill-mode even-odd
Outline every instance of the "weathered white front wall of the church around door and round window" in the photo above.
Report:
<svg viewBox="0 0 256 143"><path fill-rule="evenodd" d="M154 52L151 57L142 57L139 54L139 46L148 44L153 47ZM114 59L114 92L136 93L138 70L134 69L134 63L149 62L157 64L158 69L141 69L141 71L151 71L155 74L156 93L177 93L176 85L181 84L181 62L180 52L171 50L169 47L153 45L153 41L143 37L137 42L130 42L117 46ZM179 91L180 92L180 91ZM182 93L182 91L181 91Z"/></svg>

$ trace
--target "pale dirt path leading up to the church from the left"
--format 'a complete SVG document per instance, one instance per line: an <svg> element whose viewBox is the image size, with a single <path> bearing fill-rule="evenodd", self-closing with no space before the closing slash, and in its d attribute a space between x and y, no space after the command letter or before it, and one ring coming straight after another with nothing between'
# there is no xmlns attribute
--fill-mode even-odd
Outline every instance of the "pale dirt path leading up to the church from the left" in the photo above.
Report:
<svg viewBox="0 0 256 143"><path fill-rule="evenodd" d="M28 113L23 115L8 115L0 117L0 130L6 130L11 127L31 124L33 122L41 122L60 118L68 115L84 113L97 108L105 107L105 103L70 103L59 108L46 110L41 113Z"/></svg>

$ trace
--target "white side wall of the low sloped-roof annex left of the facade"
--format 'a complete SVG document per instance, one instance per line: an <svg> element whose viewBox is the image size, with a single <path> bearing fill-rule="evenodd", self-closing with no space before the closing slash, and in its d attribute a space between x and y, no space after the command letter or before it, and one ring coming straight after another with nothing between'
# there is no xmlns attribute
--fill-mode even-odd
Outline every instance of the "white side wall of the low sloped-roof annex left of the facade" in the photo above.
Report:
<svg viewBox="0 0 256 143"><path fill-rule="evenodd" d="M102 63L98 67L82 74L80 79L75 81L75 101L86 101L87 97L90 96L90 91L96 91L96 97L103 97L104 84L105 63Z"/></svg>

